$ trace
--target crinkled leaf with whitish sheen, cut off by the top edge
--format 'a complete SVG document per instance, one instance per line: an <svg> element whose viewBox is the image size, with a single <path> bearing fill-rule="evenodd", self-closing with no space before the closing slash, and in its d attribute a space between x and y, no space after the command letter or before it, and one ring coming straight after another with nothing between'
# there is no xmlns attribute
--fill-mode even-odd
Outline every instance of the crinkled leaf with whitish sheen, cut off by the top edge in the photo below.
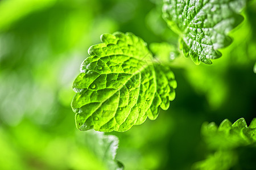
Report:
<svg viewBox="0 0 256 170"><path fill-rule="evenodd" d="M243 20L245 0L164 0L163 18L180 36L180 49L193 62L211 64L232 43L229 31Z"/></svg>

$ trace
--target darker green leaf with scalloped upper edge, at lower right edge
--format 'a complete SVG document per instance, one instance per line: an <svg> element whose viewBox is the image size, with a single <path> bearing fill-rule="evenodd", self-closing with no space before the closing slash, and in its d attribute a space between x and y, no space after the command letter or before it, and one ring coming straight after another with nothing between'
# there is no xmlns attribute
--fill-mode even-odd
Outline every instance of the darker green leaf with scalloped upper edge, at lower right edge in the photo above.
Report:
<svg viewBox="0 0 256 170"><path fill-rule="evenodd" d="M256 146L256 118L247 127L245 119L240 118L232 125L229 120L217 127L214 122L202 126L202 134L210 148L230 149L240 146Z"/></svg>

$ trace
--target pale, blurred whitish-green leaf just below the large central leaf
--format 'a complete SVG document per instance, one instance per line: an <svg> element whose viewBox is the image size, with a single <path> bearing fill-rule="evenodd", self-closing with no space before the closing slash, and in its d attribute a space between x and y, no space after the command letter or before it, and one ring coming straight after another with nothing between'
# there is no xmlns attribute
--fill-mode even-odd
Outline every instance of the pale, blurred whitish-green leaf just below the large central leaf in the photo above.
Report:
<svg viewBox="0 0 256 170"><path fill-rule="evenodd" d="M83 145L88 146L94 155L108 169L122 170L122 163L115 160L118 148L118 138L115 135L105 135L103 132L89 130L84 134Z"/></svg>

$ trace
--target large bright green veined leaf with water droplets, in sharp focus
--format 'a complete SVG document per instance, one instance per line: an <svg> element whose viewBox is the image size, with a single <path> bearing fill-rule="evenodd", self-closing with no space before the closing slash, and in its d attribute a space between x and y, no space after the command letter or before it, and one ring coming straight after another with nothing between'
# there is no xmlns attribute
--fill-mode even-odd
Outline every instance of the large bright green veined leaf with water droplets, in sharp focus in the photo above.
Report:
<svg viewBox="0 0 256 170"><path fill-rule="evenodd" d="M126 131L155 120L175 98L169 67L154 62L146 43L132 33L104 34L89 48L73 82L71 107L80 130Z"/></svg>

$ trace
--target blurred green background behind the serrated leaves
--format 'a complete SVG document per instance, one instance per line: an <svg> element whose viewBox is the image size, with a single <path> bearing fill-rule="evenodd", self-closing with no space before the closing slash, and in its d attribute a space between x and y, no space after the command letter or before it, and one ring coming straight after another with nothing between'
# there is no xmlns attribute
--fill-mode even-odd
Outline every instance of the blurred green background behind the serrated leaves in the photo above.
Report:
<svg viewBox="0 0 256 170"><path fill-rule="evenodd" d="M102 33L133 32L148 44L177 35L157 0L0 1L0 169L104 169L70 107L90 45ZM220 124L256 113L256 2L230 36L232 45L213 65L170 62L176 99L155 121L117 135L125 169L191 169L209 150L203 122ZM97 145L97 141L96 141Z"/></svg>

